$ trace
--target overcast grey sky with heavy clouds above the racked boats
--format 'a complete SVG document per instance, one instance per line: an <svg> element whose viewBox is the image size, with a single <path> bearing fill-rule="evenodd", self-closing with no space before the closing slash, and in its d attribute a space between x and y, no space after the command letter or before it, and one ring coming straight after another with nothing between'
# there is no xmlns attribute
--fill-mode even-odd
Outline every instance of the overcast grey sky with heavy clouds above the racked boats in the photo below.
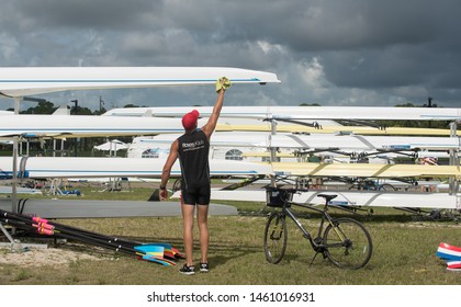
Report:
<svg viewBox="0 0 461 307"><path fill-rule="evenodd" d="M226 105L461 106L459 0L0 0L1 66L227 66L276 72ZM75 91L56 105L212 105L212 87ZM11 107L1 99L0 109ZM30 105L24 105L26 107Z"/></svg>

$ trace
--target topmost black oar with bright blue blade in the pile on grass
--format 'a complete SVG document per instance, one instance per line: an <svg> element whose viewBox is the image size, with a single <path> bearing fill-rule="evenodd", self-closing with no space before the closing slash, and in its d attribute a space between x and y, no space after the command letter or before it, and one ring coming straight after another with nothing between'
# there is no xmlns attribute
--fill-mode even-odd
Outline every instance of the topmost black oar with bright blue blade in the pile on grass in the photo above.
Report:
<svg viewBox="0 0 461 307"><path fill-rule="evenodd" d="M135 247L140 245L142 250L145 253L153 253L153 254L159 255L159 247L162 247L164 251L165 251L165 249L167 249L167 255L169 258L175 259L175 257L171 257L171 253L169 252L172 249L169 243L161 243L161 245L158 245L158 243L138 243L138 242L128 241L128 240L122 239L122 238L109 237L109 236L101 235L101 234L98 234L98 232L88 231L88 230L85 230L85 229L63 225L63 224L55 223L55 221L49 221L48 219L41 218L41 217L37 217L37 216L30 217L30 216L26 216L26 215L14 214L14 213L1 211L1 209L0 209L0 214L4 217L18 218L18 219L23 220L23 221L36 223L38 225L50 225L50 226L53 226L54 229L57 229L60 232L63 232L63 231L64 232L70 232L70 234L76 234L77 232L79 235L85 235L85 236L90 237L90 238L95 238L95 239L100 239L100 240L103 240L103 241L108 241L109 243L113 243L113 245L116 245L116 246L124 246L124 247L127 246L131 249L134 249Z"/></svg>

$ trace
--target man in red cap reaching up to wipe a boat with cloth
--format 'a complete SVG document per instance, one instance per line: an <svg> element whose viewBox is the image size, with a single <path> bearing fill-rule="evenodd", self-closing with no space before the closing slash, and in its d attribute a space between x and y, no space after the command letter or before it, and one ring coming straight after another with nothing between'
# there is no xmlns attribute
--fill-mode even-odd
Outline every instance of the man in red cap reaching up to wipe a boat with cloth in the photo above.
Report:
<svg viewBox="0 0 461 307"><path fill-rule="evenodd" d="M231 81L223 77L216 81L216 92L218 93L207 123L198 129L199 112L193 110L182 117L184 134L173 141L170 154L165 162L161 173L160 200L168 197L166 190L171 168L179 157L181 166L181 211L183 220L183 240L185 249L185 263L179 270L183 274L194 274L193 265L193 216L196 206L196 223L200 232L201 261L200 271L209 272L207 250L209 250L209 226L207 214L211 195L210 182L210 138L213 134L221 109L224 102L224 92L231 87Z"/></svg>

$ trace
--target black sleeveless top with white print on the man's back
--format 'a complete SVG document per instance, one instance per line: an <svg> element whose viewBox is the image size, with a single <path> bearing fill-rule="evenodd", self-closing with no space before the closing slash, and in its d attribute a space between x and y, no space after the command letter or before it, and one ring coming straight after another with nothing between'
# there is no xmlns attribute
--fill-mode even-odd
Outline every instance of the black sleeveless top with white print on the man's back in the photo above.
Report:
<svg viewBox="0 0 461 307"><path fill-rule="evenodd" d="M210 143L202 130L183 134L178 138L181 166L181 190L210 184Z"/></svg>

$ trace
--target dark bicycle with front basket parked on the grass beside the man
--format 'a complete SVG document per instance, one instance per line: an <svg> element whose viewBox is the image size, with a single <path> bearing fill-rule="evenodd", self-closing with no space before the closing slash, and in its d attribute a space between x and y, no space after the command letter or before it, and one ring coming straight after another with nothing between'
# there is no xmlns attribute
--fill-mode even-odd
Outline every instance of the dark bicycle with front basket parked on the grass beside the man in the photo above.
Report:
<svg viewBox="0 0 461 307"><path fill-rule="evenodd" d="M330 204L336 194L318 194L325 198L323 208L317 208L306 204L292 202L293 194L299 193L297 189L266 187L267 205L271 207L281 207L282 211L276 211L270 216L265 229L265 253L268 262L279 263L286 250L288 231L286 216L303 232L303 237L310 240L315 255L311 262L314 262L318 253L338 268L357 270L363 268L371 259L373 245L369 231L364 226L350 217L333 218L328 214L329 207L338 207ZM300 206L315 211L322 215L317 237L313 236L303 227L296 218L291 206Z"/></svg>

